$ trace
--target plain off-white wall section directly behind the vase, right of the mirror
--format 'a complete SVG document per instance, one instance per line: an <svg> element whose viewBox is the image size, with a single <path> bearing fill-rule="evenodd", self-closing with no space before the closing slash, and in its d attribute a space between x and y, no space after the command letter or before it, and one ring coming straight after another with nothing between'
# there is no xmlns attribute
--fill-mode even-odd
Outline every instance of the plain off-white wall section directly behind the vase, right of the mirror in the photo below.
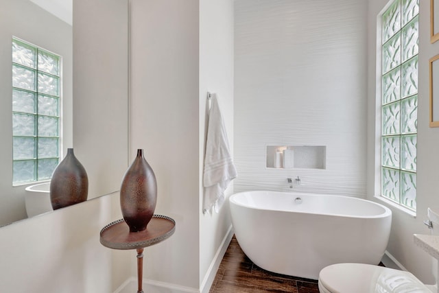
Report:
<svg viewBox="0 0 439 293"><path fill-rule="evenodd" d="M198 5L198 0L132 0L130 43L131 158L137 148L145 150L158 185L155 213L176 220L174 235L145 249L144 277L195 289L200 270Z"/></svg>

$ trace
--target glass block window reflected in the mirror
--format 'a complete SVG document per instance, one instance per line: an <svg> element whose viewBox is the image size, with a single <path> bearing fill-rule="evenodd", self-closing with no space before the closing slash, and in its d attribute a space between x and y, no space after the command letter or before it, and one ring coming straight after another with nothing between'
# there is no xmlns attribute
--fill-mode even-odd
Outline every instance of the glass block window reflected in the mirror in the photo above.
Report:
<svg viewBox="0 0 439 293"><path fill-rule="evenodd" d="M61 57L12 39L12 184L51 178L60 159Z"/></svg>

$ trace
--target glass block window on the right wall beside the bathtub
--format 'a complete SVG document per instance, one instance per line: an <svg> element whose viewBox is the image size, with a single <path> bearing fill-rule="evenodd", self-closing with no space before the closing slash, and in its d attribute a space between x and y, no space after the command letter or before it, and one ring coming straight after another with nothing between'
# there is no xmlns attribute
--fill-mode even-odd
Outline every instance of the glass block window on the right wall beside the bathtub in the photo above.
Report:
<svg viewBox="0 0 439 293"><path fill-rule="evenodd" d="M381 18L381 196L416 211L419 0Z"/></svg>

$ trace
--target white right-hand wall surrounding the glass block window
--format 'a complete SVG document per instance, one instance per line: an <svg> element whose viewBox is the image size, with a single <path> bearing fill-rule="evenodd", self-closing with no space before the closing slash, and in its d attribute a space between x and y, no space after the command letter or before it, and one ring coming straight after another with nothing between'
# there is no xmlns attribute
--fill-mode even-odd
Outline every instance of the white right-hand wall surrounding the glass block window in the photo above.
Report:
<svg viewBox="0 0 439 293"><path fill-rule="evenodd" d="M375 180L375 169L379 161L375 153L375 113L376 56L377 56L377 15L388 3L386 0L369 0L368 8L368 198L379 194L379 183ZM439 43L429 42L429 1L419 1L419 68L418 68L418 154L417 154L417 215L416 218L392 209L392 232L388 253L407 270L425 283L434 283L431 267L433 260L422 249L414 245L413 234L428 234L423 224L427 219L427 208L439 205L439 165L438 128L429 128L429 58L438 54ZM379 158L379 155L378 155ZM377 161L377 162L375 162Z"/></svg>

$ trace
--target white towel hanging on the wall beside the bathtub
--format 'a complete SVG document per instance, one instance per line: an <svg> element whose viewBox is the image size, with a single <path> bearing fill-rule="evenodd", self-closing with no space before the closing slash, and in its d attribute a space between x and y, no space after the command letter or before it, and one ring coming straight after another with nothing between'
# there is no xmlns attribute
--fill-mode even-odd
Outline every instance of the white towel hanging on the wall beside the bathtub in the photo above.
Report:
<svg viewBox="0 0 439 293"><path fill-rule="evenodd" d="M209 126L207 127L206 156L204 157L204 201L203 213L214 209L218 213L224 203L224 191L237 172L228 148L224 121L216 94L211 95Z"/></svg>

